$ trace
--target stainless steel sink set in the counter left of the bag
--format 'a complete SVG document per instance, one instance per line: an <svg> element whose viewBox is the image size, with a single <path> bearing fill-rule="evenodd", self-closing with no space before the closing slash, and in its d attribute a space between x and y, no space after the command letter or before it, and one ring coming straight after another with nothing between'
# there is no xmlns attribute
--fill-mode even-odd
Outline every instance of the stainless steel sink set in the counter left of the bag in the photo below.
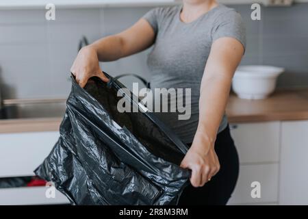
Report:
<svg viewBox="0 0 308 219"><path fill-rule="evenodd" d="M56 118L63 117L65 110L65 99L5 100L0 118Z"/></svg>

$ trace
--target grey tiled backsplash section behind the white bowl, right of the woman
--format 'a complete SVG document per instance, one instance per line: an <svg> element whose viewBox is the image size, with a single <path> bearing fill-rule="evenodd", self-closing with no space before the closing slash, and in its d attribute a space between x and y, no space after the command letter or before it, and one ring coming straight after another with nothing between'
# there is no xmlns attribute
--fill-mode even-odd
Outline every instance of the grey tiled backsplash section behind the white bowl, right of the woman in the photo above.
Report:
<svg viewBox="0 0 308 219"><path fill-rule="evenodd" d="M235 5L247 28L247 52L242 64L285 68L279 87L308 86L308 3L286 8L262 8L261 21L250 19L246 5Z"/></svg>

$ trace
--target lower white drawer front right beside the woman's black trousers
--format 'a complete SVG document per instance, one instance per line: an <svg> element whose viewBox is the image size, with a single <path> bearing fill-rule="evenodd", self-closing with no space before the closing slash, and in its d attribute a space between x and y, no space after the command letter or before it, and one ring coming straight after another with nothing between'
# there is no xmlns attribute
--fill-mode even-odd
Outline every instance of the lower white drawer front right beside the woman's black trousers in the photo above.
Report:
<svg viewBox="0 0 308 219"><path fill-rule="evenodd" d="M249 203L278 202L278 164L256 164L240 166L240 177L229 205ZM251 183L258 181L261 185L261 198L252 198Z"/></svg>

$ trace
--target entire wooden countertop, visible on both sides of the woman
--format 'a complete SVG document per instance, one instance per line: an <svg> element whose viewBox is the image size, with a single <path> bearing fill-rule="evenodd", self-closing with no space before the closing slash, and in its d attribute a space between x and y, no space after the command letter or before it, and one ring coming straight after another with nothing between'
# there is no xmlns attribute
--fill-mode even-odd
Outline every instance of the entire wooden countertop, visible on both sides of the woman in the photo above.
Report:
<svg viewBox="0 0 308 219"><path fill-rule="evenodd" d="M268 99L244 100L231 94L227 105L230 123L271 120L308 120L308 88L277 90ZM0 120L0 133L58 131L62 118Z"/></svg>

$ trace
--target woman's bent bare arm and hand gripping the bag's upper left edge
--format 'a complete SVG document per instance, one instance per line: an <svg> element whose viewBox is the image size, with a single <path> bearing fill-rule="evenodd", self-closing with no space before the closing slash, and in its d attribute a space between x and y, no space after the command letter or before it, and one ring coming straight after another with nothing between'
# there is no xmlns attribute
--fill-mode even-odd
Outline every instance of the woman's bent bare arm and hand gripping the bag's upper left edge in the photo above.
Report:
<svg viewBox="0 0 308 219"><path fill-rule="evenodd" d="M114 61L138 53L151 47L154 41L153 28L142 18L120 34L107 36L82 48L70 71L76 76L76 81L81 87L93 76L108 81L101 71L99 62Z"/></svg>

